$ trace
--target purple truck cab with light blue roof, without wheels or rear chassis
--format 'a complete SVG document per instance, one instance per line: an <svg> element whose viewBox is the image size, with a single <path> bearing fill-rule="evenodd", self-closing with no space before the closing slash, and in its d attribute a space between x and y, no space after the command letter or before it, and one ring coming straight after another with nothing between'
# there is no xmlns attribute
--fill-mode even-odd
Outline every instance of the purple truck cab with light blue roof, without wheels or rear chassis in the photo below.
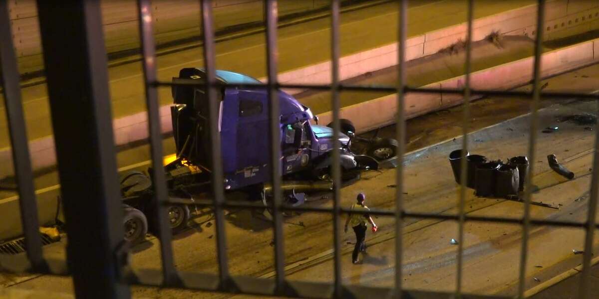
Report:
<svg viewBox="0 0 599 299"><path fill-rule="evenodd" d="M229 84L260 84L247 75L216 71L217 80ZM196 68L181 69L173 82L203 82L205 73ZM283 176L326 172L333 147L330 127L312 124L309 108L284 91L277 91L280 103L281 155ZM201 88L173 86L175 106L171 109L178 157L211 168L208 136L208 100ZM270 181L270 137L268 94L264 87L224 87L218 92L219 132L225 188L235 190ZM344 169L358 166L349 151L350 138L340 134Z"/></svg>

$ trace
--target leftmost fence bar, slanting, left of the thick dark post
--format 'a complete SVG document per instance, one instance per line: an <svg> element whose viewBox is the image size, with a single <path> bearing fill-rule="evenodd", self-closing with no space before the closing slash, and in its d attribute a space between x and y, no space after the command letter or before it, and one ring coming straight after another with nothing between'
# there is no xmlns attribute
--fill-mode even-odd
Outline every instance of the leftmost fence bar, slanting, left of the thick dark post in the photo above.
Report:
<svg viewBox="0 0 599 299"><path fill-rule="evenodd" d="M35 199L35 187L31 160L29 159L29 144L27 128L23 117L21 90L19 86L19 69L17 56L14 53L13 35L10 30L10 14L8 1L0 1L0 74L4 86L4 105L8 120L11 152L14 161L14 174L19 191L19 207L21 224L25 234L27 257L33 270L46 271L47 265L41 250L41 237Z"/></svg>

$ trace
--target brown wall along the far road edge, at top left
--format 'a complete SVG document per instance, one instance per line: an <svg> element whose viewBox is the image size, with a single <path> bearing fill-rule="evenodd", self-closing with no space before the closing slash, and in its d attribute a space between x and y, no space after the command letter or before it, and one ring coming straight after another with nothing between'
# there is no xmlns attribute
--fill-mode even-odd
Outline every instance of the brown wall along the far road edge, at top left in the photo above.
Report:
<svg viewBox="0 0 599 299"><path fill-rule="evenodd" d="M261 22L262 0L214 0L217 30ZM40 28L35 0L9 1L10 19L19 68L22 73L42 68ZM279 15L309 11L329 5L329 0L279 0ZM156 43L200 35L200 7L196 0L154 0ZM137 1L101 0L102 23L108 53L139 48Z"/></svg>

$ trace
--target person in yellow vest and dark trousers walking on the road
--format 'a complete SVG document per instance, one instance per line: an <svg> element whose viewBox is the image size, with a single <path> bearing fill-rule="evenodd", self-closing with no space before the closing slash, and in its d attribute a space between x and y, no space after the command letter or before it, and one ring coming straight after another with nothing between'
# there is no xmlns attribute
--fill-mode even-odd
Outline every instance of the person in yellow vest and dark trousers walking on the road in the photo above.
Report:
<svg viewBox="0 0 599 299"><path fill-rule="evenodd" d="M356 197L356 203L352 205L351 210L370 210L364 202L366 200L366 195L364 193L359 193ZM356 234L356 245L353 247L352 252L352 263L358 263L358 253L366 252L366 245L364 244L364 240L366 239L366 221L370 222L370 225L373 226L373 230L376 230L377 226L374 224L373 218L371 218L368 213L352 213L350 212L345 221L345 229L344 231L347 233L347 225L351 224L353 228L353 232Z"/></svg>

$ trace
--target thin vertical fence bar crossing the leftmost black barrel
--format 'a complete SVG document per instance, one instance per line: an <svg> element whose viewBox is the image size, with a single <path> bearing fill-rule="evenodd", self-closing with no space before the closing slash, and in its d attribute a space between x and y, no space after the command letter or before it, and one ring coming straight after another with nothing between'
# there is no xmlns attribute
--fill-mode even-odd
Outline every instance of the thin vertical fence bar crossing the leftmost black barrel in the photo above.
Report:
<svg viewBox="0 0 599 299"><path fill-rule="evenodd" d="M466 202L466 180L468 167L466 164L466 152L468 152L468 126L470 124L470 72L472 71L472 23L473 23L473 0L468 0L468 29L466 33L466 61L465 68L465 87L464 87L464 115L462 116L462 159L461 159L461 177L459 185L459 203L458 203L458 257L456 267L456 297L462 295L462 267L464 264L464 218Z"/></svg>

